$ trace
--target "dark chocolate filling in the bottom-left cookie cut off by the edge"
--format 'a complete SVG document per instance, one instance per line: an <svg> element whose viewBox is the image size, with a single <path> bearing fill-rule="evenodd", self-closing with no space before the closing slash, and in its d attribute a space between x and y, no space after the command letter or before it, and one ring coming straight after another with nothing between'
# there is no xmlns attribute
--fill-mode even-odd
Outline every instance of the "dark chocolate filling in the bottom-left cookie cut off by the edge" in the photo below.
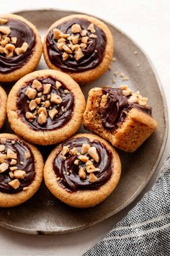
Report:
<svg viewBox="0 0 170 256"><path fill-rule="evenodd" d="M21 192L24 187L28 187L31 184L31 182L35 179L34 155L32 155L30 148L28 148L28 146L25 145L24 142L20 140L13 140L13 142L14 144L12 143L12 140L6 140L5 150L1 152L1 154L6 154L7 150L10 149L14 153L17 153L17 163L15 165L10 165L12 159L6 158L5 162L9 164L9 168L7 168L6 171L0 173L0 192L8 194ZM30 155L29 158L25 156L26 152ZM9 172L11 171L10 167L12 166L16 166L17 170L22 170L26 172L24 179L19 179L20 184L17 189L14 189L8 184L9 182L12 182L12 180L15 179L12 179L9 176Z"/></svg>

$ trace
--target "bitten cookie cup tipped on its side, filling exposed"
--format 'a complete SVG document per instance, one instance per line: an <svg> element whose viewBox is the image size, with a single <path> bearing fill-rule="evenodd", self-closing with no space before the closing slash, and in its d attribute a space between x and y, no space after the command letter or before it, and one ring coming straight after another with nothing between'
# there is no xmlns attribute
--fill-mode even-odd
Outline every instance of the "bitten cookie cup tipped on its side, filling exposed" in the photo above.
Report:
<svg viewBox="0 0 170 256"><path fill-rule="evenodd" d="M84 127L117 148L133 152L156 130L148 98L122 85L93 88L84 112Z"/></svg>

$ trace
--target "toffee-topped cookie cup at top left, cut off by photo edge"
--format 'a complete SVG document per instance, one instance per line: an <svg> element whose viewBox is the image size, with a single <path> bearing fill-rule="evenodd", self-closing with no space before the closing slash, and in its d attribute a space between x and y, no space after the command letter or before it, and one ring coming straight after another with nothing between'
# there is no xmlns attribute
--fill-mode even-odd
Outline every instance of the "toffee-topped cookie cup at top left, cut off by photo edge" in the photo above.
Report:
<svg viewBox="0 0 170 256"><path fill-rule="evenodd" d="M15 14L0 15L0 81L17 81L35 70L42 55L36 27Z"/></svg>

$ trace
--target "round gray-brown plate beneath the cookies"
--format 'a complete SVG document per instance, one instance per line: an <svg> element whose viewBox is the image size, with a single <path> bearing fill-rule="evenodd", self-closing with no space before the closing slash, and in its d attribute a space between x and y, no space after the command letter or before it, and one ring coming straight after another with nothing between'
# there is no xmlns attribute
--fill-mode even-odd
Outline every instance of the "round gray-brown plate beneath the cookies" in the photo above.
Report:
<svg viewBox="0 0 170 256"><path fill-rule="evenodd" d="M17 14L35 24L43 37L55 20L73 12L37 10ZM109 28L115 37L116 61L102 77L82 87L82 90L87 96L89 90L95 86L112 85L115 70L123 72L130 80L122 82L116 77L115 86L128 84L149 98L149 103L153 106L153 116L158 122L157 132L135 153L117 150L122 161L122 176L115 191L102 204L86 210L71 208L53 197L42 184L32 199L23 205L10 209L1 208L1 226L28 234L62 234L87 228L109 218L133 202L156 170L164 151L168 132L166 100L161 83L151 61L133 40L115 26L109 25ZM138 54L134 54L135 51ZM45 61L42 59L37 69L46 68ZM10 86L6 90L9 91ZM1 132L12 132L7 121ZM80 132L84 132L83 127ZM53 147L39 148L46 158Z"/></svg>

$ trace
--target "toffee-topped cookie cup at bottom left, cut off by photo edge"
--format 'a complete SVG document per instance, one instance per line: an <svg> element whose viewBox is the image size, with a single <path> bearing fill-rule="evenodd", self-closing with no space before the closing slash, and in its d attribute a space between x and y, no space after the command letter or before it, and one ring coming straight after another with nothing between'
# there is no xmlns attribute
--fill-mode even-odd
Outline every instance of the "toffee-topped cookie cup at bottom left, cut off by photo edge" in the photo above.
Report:
<svg viewBox="0 0 170 256"><path fill-rule="evenodd" d="M43 160L35 146L16 135L0 135L0 207L32 197L42 182Z"/></svg>

